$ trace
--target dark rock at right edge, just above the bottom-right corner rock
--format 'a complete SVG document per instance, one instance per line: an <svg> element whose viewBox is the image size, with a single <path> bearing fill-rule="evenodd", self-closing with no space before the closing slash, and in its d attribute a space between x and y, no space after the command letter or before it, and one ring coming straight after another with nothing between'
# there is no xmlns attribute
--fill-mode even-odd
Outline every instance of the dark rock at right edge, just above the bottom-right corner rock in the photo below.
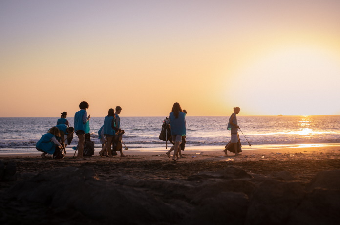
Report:
<svg viewBox="0 0 340 225"><path fill-rule="evenodd" d="M307 185L308 190L314 188L326 188L332 190L340 189L340 170L321 171L315 175Z"/></svg>

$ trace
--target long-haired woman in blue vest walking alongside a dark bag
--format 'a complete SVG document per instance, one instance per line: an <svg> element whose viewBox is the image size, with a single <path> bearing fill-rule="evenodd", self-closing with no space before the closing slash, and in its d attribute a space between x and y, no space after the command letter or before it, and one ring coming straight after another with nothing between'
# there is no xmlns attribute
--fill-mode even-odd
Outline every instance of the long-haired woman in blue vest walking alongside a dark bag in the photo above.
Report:
<svg viewBox="0 0 340 225"><path fill-rule="evenodd" d="M171 138L172 141L175 143L174 152L172 160L177 161L175 158L178 157L178 149L179 145L182 142L182 136L185 136L187 133L186 127L185 127L185 113L183 112L181 106L178 102L175 102L172 106L172 110L169 114L169 119L167 120L167 123L170 124L171 128Z"/></svg>

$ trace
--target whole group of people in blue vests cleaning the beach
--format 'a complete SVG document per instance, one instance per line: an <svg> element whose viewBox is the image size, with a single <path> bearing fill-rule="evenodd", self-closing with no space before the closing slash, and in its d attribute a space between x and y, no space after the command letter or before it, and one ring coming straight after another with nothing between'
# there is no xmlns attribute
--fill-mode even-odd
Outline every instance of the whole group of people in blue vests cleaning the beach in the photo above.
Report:
<svg viewBox="0 0 340 225"><path fill-rule="evenodd" d="M77 160L84 160L83 158L83 149L84 149L84 141L85 134L89 133L89 120L91 118L90 115L87 115L87 109L89 104L85 101L79 104L79 111L74 115L74 128L69 126L67 117L67 112L62 112L61 118L58 119L57 125L49 129L49 131L44 134L41 139L36 144L36 149L43 152L41 156L44 159L46 158L46 154L53 154L56 147L63 149L66 154L65 147L67 144L70 144L73 138L73 133L78 136L78 154ZM124 130L120 128L120 117L122 108L120 106L116 107L116 112L114 109L109 109L107 116L104 119L104 125L98 131L98 138L102 144L102 149L99 152L101 157L113 157L113 155L117 155L115 150L120 151L120 156L125 157L123 154L123 148L117 148L117 140L121 142L122 135L124 134ZM238 152L238 144L239 144L239 136L237 130L239 126L237 125L236 114L240 112L239 107L234 108L234 113L230 116L228 121L228 130L231 130L231 141L225 146L224 153L227 154L227 150L230 150L231 147L234 147L235 155L241 155ZM181 106L178 102L174 103L172 106L172 110L169 114L169 117L166 119L166 123L170 125L171 129L171 139L174 145L170 148L170 150L166 153L166 155L170 158L170 153L174 151L172 160L177 161L184 156L181 153L181 143L185 142L186 137L186 117L187 111L182 110ZM65 137L66 136L66 141ZM114 145L116 149L112 151L111 145ZM183 147L184 148L184 147ZM115 154L112 154L114 152Z"/></svg>

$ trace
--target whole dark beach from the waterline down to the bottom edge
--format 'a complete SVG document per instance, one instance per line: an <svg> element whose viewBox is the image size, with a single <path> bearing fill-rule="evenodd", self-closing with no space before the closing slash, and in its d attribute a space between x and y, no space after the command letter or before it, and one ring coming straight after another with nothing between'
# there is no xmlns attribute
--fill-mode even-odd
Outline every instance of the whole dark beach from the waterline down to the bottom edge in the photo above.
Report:
<svg viewBox="0 0 340 225"><path fill-rule="evenodd" d="M228 221L231 224L318 224L324 217L327 217L328 224L340 221L335 213L339 203L328 203L327 210L323 209L322 212L324 203L313 202L312 198L320 189L323 190L321 196L340 198L339 146L246 149L242 156L234 156L233 153L226 156L222 150L205 151L203 148L189 149L183 153L185 158L177 162L168 158L165 151L136 154L127 150L127 157L119 157L118 154L114 158L101 158L96 152L84 161L72 158L73 153L57 160L43 160L39 153L1 155L5 166L15 163L17 180L0 182L0 223L24 223L39 219L41 224L66 221L66 224L205 224L209 221L212 224ZM318 183L315 177L321 171L338 173L330 181L330 187L321 182L324 187L311 188L313 182ZM54 179L56 173L58 175ZM81 181L75 182L79 179ZM230 182L237 185L233 186ZM270 184L263 188L266 182ZM337 182L338 188L331 188L334 182ZM96 188L83 190L84 185ZM57 191L57 186L63 191ZM279 202L265 200L261 203L258 200L262 195L259 188L266 190L262 193L264 196L270 198L275 195ZM44 199L37 190L44 190L43 196L49 197ZM146 195L145 198L141 197L141 193ZM296 194L293 200L290 199L292 193ZM68 196L65 202L57 203L63 195ZM80 195L86 198L81 199ZM287 203L282 202L286 199L285 195L288 195ZM309 198L309 195L312 197ZM71 196L78 197L70 200ZM138 196L140 199L130 200L127 196ZM43 200L39 200L41 198ZM218 199L223 201L219 202ZM306 201L308 207L301 208ZM112 202L115 203L111 205ZM87 204L87 207L79 204ZM265 205L262 205L265 207L261 211L263 215L255 210L259 204ZM141 208L145 207L144 212ZM318 220L311 207L317 211L321 208ZM97 209L94 214L94 208L100 208L100 212ZM310 214L306 214L307 209ZM61 212L63 218L60 218ZM268 214L277 215L272 218Z"/></svg>

